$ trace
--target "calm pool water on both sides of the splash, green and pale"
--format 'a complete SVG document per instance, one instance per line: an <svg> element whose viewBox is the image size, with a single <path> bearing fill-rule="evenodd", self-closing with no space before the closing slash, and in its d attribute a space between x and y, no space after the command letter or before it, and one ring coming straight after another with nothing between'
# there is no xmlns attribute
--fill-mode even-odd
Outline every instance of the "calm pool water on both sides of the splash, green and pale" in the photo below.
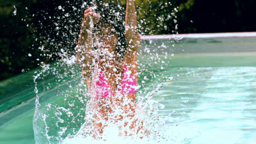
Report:
<svg viewBox="0 0 256 144"><path fill-rule="evenodd" d="M190 142L256 141L256 67L170 68L165 76L154 99L164 105L160 115L176 111L168 121L184 140L197 133ZM1 113L3 143L34 143L33 104L34 98Z"/></svg>

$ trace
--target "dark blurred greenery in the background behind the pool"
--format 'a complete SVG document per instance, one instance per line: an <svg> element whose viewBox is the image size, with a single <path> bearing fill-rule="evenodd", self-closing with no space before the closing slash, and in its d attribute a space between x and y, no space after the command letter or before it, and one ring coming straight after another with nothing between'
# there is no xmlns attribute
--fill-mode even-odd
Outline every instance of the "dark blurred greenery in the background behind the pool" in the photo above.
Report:
<svg viewBox="0 0 256 144"><path fill-rule="evenodd" d="M89 2L1 0L0 80L56 61L59 57L53 53L63 49L67 56L73 55ZM126 0L111 2L125 8ZM136 4L143 35L256 31L254 0L136 0Z"/></svg>

